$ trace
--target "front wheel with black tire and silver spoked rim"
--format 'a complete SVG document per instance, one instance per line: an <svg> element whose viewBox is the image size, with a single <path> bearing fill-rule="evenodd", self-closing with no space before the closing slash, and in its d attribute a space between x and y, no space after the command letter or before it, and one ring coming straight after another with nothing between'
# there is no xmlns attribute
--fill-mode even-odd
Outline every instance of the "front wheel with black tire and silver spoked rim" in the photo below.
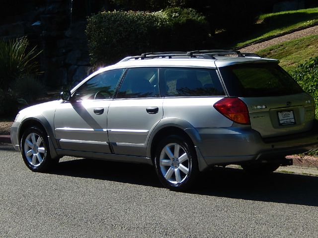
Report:
<svg viewBox="0 0 318 238"><path fill-rule="evenodd" d="M21 138L21 154L25 165L33 172L45 172L58 162L51 158L46 133L36 126L24 131Z"/></svg>

